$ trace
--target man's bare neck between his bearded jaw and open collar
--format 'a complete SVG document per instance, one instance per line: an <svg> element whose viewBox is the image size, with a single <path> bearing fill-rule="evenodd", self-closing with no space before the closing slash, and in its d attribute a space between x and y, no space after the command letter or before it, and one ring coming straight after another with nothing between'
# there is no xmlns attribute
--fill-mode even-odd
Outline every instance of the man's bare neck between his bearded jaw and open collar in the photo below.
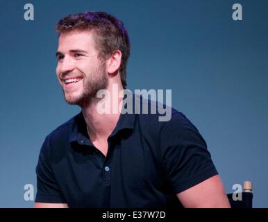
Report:
<svg viewBox="0 0 268 222"><path fill-rule="evenodd" d="M118 89L115 89L115 87ZM83 117L87 123L88 134L92 142L95 140L107 139L117 125L122 109L122 98L119 98L119 92L123 87L121 84L113 85L112 83L107 87L107 94L103 99L99 99L94 103L82 108ZM105 107L108 112L100 113L97 108ZM112 112L116 110L117 112Z"/></svg>

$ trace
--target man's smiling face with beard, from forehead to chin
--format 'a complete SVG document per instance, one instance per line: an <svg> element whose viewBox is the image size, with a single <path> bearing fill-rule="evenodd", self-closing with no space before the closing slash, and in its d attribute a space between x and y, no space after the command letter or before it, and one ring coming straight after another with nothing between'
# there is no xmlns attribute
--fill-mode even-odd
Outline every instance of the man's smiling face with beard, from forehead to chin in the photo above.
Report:
<svg viewBox="0 0 268 222"><path fill-rule="evenodd" d="M83 108L94 101L99 89L107 88L105 62L98 58L92 32L60 35L56 57L56 74L67 103Z"/></svg>

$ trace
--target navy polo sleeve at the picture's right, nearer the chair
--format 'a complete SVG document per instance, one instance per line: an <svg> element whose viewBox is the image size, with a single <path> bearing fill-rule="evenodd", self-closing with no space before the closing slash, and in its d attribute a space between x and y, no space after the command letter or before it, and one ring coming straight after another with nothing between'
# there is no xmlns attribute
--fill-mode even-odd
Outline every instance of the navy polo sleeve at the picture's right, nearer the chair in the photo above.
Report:
<svg viewBox="0 0 268 222"><path fill-rule="evenodd" d="M174 194L217 175L205 140L181 112L162 127L160 144L162 168Z"/></svg>

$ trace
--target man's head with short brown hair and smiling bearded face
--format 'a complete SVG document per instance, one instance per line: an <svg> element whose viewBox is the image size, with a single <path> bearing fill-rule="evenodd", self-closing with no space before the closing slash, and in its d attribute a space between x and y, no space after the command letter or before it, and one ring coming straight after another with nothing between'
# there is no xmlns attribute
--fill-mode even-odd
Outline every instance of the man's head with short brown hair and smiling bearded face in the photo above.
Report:
<svg viewBox="0 0 268 222"><path fill-rule="evenodd" d="M83 106L99 89L107 87L106 61L114 54L119 55L115 72L119 71L126 88L130 42L122 22L106 12L81 12L60 19L56 31L59 35L56 72L68 103Z"/></svg>

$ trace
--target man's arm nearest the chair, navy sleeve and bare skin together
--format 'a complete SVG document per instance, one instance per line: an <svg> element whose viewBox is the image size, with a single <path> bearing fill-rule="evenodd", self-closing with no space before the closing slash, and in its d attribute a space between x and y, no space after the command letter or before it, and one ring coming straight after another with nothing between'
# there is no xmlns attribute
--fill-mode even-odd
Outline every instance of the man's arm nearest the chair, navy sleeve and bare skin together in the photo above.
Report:
<svg viewBox="0 0 268 222"><path fill-rule="evenodd" d="M162 169L184 207L230 207L206 142L184 114L164 124L160 147Z"/></svg>

